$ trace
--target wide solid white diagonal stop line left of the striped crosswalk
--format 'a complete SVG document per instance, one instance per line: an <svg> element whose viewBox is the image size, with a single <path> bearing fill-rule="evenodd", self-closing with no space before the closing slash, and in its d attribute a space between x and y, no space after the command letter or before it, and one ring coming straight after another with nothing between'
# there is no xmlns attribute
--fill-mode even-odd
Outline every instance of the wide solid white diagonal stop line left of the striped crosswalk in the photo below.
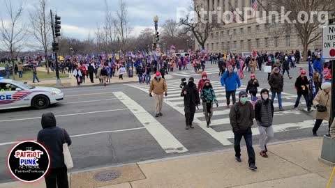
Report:
<svg viewBox="0 0 335 188"><path fill-rule="evenodd" d="M140 104L128 97L123 92L114 92L114 95L122 102L134 116L148 130L151 136L156 139L158 144L167 153L172 152L187 152L188 150L149 112L147 112Z"/></svg>

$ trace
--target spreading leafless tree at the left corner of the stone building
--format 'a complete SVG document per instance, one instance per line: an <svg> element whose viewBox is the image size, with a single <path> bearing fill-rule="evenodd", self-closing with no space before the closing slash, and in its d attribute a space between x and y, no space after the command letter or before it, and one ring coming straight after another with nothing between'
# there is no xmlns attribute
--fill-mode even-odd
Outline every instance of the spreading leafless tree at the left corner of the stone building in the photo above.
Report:
<svg viewBox="0 0 335 188"><path fill-rule="evenodd" d="M209 12L202 14L202 10L196 5L196 0L191 1L191 10L195 13L194 17L188 13L186 17L180 19L179 25L183 27L184 33L191 31L199 45L204 49L209 33L212 29L218 28L220 24L215 16L208 14Z"/></svg>

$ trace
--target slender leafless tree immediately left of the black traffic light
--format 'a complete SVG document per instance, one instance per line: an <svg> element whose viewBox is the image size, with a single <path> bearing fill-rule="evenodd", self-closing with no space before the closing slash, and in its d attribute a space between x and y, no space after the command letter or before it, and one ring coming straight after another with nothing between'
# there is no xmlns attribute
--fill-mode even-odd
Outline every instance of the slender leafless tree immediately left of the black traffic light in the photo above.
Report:
<svg viewBox="0 0 335 188"><path fill-rule="evenodd" d="M47 60L47 49L50 47L52 41L50 16L45 12L47 0L39 0L38 4L34 6L34 12L29 13L31 29L29 33L38 41L43 47L44 57ZM49 74L49 61L45 61L47 65L47 74Z"/></svg>

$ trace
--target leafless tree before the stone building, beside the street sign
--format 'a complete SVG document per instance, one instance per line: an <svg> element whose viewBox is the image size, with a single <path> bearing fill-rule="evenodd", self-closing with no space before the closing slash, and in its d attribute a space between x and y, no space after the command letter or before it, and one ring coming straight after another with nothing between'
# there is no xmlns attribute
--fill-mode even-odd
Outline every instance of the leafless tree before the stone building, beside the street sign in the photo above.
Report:
<svg viewBox="0 0 335 188"><path fill-rule="evenodd" d="M318 15L313 15L315 11L330 11L334 6L333 0L271 0L272 3L277 7L285 7L285 11L290 11L288 18L290 20L308 20L308 22L297 22L294 25L295 30L301 38L302 45L304 47L304 58L307 56L308 45L313 43L322 37L322 30L320 25L322 24L318 19ZM332 6L333 5L333 6ZM307 13L308 17L299 14L301 11ZM312 15L312 16L311 16ZM312 35L315 33L315 35Z"/></svg>

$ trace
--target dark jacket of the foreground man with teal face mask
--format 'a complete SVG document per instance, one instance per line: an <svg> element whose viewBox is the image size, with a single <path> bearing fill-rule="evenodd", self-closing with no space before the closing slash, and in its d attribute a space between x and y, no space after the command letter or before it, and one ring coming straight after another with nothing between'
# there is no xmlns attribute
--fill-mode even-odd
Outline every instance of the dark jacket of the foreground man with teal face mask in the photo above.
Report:
<svg viewBox="0 0 335 188"><path fill-rule="evenodd" d="M253 118L255 118L253 105L248 101L246 104L235 103L230 109L229 118L232 132L248 130L253 126Z"/></svg>

